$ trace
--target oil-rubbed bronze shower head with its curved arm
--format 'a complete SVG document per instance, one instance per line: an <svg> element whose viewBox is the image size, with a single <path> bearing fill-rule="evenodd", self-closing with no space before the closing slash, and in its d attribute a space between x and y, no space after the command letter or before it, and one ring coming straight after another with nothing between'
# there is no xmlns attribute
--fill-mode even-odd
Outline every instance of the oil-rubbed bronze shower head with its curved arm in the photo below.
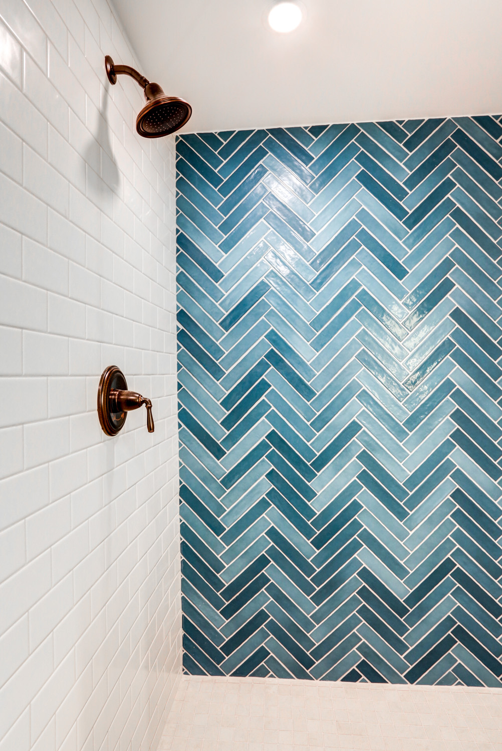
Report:
<svg viewBox="0 0 502 751"><path fill-rule="evenodd" d="M116 83L120 74L131 76L144 89L147 104L136 119L136 130L145 138L167 136L183 128L192 115L192 107L177 96L166 96L158 83L150 81L129 65L115 65L110 55L104 58L104 67L110 83Z"/></svg>

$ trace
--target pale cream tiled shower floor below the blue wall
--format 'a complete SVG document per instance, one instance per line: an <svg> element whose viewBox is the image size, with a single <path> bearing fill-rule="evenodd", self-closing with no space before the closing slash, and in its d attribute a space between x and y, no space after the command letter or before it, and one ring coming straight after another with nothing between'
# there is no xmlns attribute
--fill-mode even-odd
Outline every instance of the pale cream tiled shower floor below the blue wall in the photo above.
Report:
<svg viewBox="0 0 502 751"><path fill-rule="evenodd" d="M181 678L159 751L502 751L502 689Z"/></svg>

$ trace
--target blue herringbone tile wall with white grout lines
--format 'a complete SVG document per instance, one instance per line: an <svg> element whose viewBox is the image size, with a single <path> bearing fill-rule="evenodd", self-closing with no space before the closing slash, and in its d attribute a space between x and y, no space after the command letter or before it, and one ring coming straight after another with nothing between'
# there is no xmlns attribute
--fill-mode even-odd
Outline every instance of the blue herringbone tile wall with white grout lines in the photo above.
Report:
<svg viewBox="0 0 502 751"><path fill-rule="evenodd" d="M177 140L186 672L502 686L501 144Z"/></svg>

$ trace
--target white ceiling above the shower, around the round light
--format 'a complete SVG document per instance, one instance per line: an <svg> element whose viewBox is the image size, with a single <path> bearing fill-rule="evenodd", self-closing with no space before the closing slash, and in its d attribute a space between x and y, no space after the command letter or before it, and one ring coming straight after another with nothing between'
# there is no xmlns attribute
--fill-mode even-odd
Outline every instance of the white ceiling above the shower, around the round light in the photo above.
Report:
<svg viewBox="0 0 502 751"><path fill-rule="evenodd" d="M302 0L287 35L271 4L115 0L185 131L502 113L502 0Z"/></svg>

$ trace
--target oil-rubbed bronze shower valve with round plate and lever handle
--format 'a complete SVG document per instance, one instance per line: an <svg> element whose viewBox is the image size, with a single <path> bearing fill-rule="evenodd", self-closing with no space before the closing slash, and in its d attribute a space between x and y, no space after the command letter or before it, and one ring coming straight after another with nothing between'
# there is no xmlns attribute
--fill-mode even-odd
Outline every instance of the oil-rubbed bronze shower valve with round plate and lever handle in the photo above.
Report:
<svg viewBox="0 0 502 751"><path fill-rule="evenodd" d="M127 391L127 382L116 365L109 365L98 386L98 417L107 436L116 436L126 422L127 413L142 405L147 407L147 428L153 433L152 403L136 391Z"/></svg>

